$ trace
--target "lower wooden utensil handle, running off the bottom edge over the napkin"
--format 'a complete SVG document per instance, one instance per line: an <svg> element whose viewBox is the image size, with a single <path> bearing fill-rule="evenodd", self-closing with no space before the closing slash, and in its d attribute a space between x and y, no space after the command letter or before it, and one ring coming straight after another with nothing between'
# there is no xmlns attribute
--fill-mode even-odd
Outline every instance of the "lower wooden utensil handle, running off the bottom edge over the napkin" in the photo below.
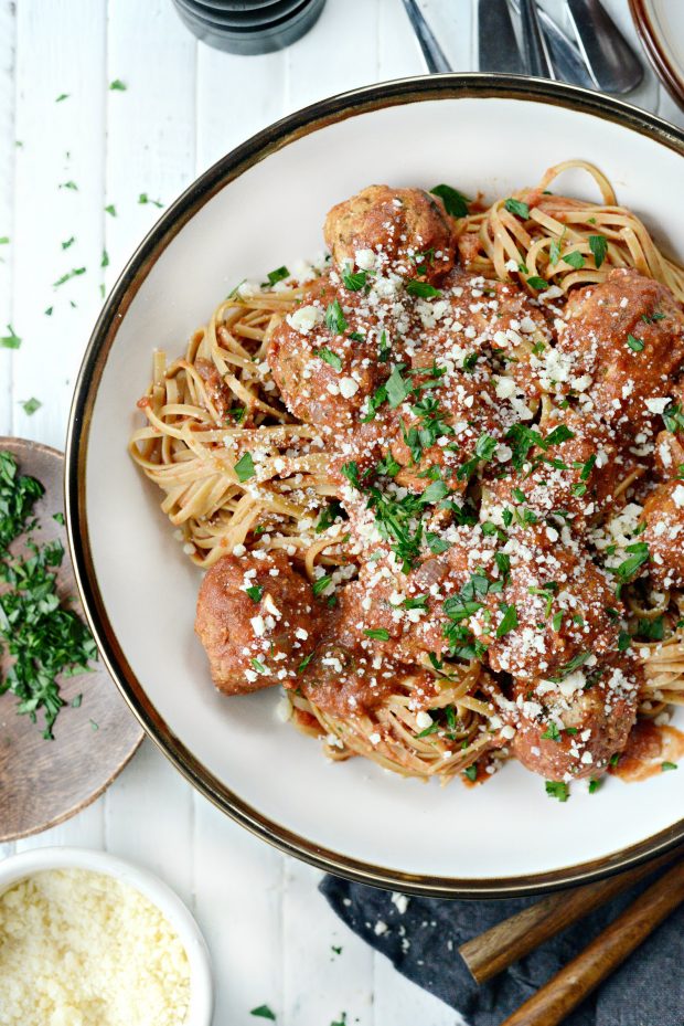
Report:
<svg viewBox="0 0 684 1026"><path fill-rule="evenodd" d="M663 874L501 1026L558 1026L682 901L684 861Z"/></svg>

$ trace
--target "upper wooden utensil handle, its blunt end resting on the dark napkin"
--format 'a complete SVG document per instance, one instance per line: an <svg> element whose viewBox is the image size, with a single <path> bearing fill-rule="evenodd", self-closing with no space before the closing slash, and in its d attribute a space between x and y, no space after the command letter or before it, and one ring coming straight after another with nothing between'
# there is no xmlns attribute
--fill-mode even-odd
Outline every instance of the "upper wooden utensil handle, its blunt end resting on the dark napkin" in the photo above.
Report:
<svg viewBox="0 0 684 1026"><path fill-rule="evenodd" d="M610 901L660 866L666 865L672 858L672 854L669 854L607 880L549 895L548 898L543 898L536 905L510 916L491 930L461 944L459 954L475 982L485 983L556 933L560 933L566 927L588 916L594 909Z"/></svg>

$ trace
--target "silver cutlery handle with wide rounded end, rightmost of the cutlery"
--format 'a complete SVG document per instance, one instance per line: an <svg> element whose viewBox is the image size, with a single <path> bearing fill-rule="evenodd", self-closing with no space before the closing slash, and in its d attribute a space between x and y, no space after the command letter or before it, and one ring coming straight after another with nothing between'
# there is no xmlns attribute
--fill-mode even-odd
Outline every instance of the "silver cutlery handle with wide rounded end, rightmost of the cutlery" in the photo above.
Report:
<svg viewBox="0 0 684 1026"><path fill-rule="evenodd" d="M641 66L600 0L566 0L581 55L603 93L629 93L643 78Z"/></svg>

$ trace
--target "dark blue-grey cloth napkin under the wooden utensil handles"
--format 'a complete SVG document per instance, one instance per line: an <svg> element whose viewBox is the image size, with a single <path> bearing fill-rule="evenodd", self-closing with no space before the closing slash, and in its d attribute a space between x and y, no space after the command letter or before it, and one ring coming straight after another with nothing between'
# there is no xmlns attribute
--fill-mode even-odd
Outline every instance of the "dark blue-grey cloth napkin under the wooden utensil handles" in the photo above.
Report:
<svg viewBox="0 0 684 1026"><path fill-rule="evenodd" d="M499 1026L650 882L652 878L597 909L481 987L457 949L537 899L403 899L331 876L320 889L355 933L414 983L457 1008L469 1026ZM684 907L576 1008L565 1026L684 1026Z"/></svg>

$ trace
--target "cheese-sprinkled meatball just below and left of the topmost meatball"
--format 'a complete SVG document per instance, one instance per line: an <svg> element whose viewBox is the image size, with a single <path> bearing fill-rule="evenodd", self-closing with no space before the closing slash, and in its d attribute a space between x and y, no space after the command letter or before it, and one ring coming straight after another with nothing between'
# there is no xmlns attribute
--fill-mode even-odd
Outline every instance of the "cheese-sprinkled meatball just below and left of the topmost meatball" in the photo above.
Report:
<svg viewBox="0 0 684 1026"><path fill-rule="evenodd" d="M278 325L267 359L290 413L340 430L359 423L367 399L389 374L378 360L382 345L377 313L359 293L323 277Z"/></svg>

